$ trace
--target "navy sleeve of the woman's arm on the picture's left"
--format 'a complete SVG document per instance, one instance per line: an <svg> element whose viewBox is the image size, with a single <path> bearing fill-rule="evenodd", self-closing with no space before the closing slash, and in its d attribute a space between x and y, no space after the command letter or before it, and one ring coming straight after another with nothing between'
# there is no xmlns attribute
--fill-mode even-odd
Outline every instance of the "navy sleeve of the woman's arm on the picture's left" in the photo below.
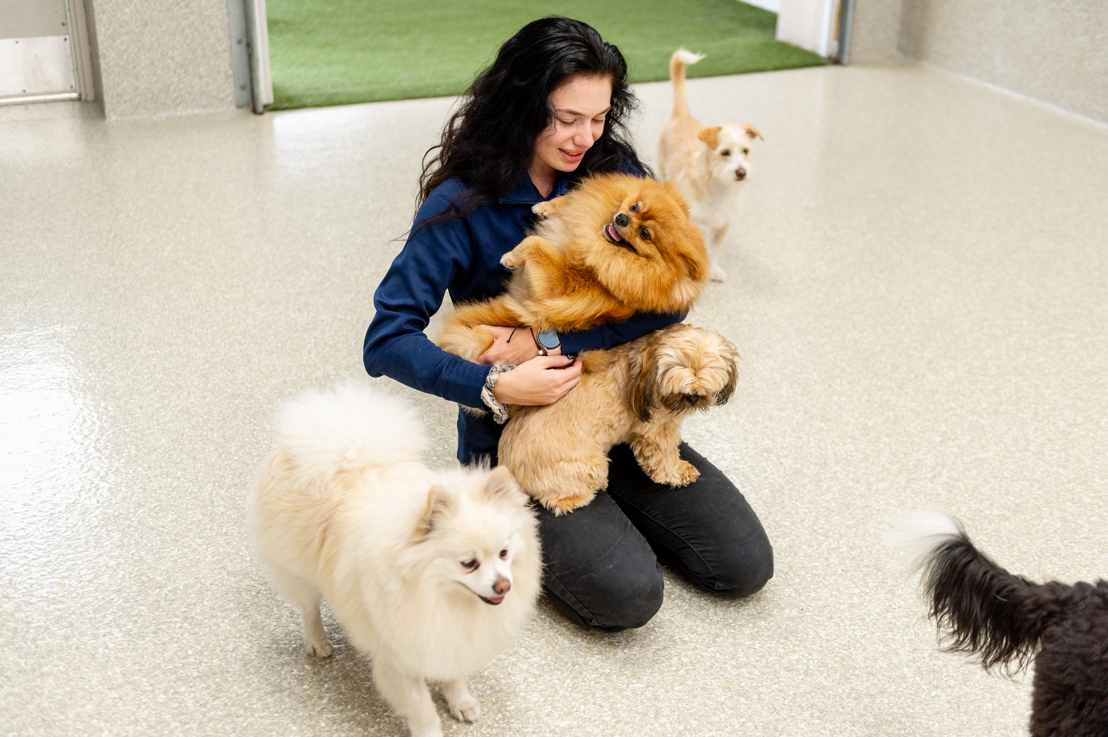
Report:
<svg viewBox="0 0 1108 737"><path fill-rule="evenodd" d="M482 408L481 388L490 367L448 354L423 332L454 276L470 267L473 248L461 218L417 229L419 223L443 212L460 191L460 186L440 186L417 214L414 235L373 295L377 313L366 331L362 359L372 377L388 376L449 401Z"/></svg>

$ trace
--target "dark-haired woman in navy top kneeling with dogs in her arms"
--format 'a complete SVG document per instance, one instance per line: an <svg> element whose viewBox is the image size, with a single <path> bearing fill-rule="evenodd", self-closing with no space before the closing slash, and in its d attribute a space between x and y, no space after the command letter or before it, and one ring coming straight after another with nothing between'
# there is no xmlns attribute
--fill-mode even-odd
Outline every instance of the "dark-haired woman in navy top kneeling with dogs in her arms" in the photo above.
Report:
<svg viewBox="0 0 1108 737"><path fill-rule="evenodd" d="M685 318L643 314L543 334L548 356L538 355L526 330L526 340L509 342L516 326L488 326L495 342L480 364L423 334L448 290L455 304L503 291L510 273L500 258L526 236L532 205L592 174L649 174L624 126L637 102L626 76L619 50L581 21L537 20L501 47L424 166L411 235L373 297L365 346L370 376L483 407L490 367L514 364L497 377L496 401L550 405L581 377L579 361L562 354L611 348ZM495 463L500 430L491 413L460 411L458 460ZM680 453L700 471L684 489L654 483L630 449L616 446L607 493L561 516L537 508L544 590L558 612L599 632L642 627L661 606L659 561L725 596L752 594L773 575L773 550L742 494L688 444Z"/></svg>

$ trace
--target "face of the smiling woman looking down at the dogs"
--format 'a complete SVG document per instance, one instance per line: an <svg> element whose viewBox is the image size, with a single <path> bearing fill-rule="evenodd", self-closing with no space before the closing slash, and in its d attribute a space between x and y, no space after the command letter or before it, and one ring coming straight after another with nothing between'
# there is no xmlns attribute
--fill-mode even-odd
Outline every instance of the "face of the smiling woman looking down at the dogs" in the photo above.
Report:
<svg viewBox="0 0 1108 737"><path fill-rule="evenodd" d="M585 152L604 133L604 117L612 106L612 80L573 76L550 96L554 121L535 139L534 164L572 172Z"/></svg>

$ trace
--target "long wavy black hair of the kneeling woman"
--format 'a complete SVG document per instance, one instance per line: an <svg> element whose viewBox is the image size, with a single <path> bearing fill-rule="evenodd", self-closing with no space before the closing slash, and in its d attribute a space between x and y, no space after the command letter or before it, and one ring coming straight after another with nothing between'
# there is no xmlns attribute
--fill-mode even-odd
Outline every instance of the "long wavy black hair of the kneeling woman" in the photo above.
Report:
<svg viewBox="0 0 1108 737"><path fill-rule="evenodd" d="M632 167L652 175L629 141L626 120L638 101L627 84L627 62L619 49L579 20L543 18L504 42L447 121L441 143L424 154L417 212L448 180L459 177L468 190L420 228L468 215L517 186L526 176L535 140L553 121L551 93L577 75L609 78L612 109L604 133L570 174L571 182Z"/></svg>

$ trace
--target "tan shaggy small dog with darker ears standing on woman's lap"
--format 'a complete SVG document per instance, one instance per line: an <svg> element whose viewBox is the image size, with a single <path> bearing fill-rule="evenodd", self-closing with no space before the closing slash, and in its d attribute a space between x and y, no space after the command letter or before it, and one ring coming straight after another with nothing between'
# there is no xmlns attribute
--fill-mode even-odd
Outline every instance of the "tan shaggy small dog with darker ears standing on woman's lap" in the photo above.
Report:
<svg viewBox="0 0 1108 737"><path fill-rule="evenodd" d="M720 335L669 327L612 350L581 354L581 383L546 407L512 407L500 463L544 506L563 514L608 485L608 450L629 443L652 481L687 487L700 472L681 460L681 422L725 403L739 352Z"/></svg>

